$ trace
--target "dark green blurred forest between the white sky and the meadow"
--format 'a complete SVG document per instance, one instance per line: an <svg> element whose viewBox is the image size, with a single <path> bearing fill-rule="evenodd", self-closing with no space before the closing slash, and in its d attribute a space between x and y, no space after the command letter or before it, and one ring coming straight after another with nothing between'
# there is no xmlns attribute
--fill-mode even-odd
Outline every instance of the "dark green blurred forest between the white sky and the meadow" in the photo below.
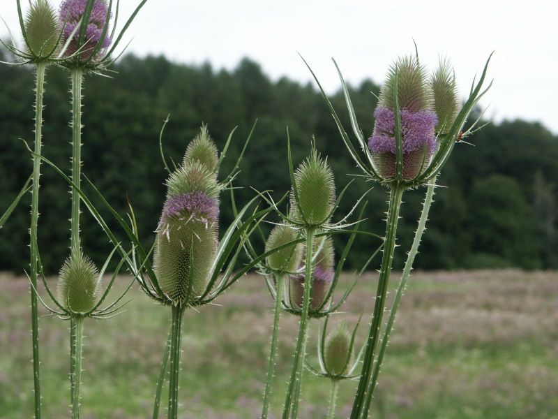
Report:
<svg viewBox="0 0 558 419"><path fill-rule="evenodd" d="M257 119L234 186L238 203L255 192L272 189L275 197L289 189L287 135L289 127L294 163L310 150L312 135L317 148L329 156L338 191L355 179L342 200L338 216L345 214L365 191L367 220L363 229L383 235L386 190L365 182L345 151L322 96L312 84L287 78L271 81L254 61L243 59L234 71L216 70L210 64L186 66L164 57L127 56L112 68L111 78L88 76L84 84L84 175L103 191L122 214L127 199L150 244L165 196L166 172L159 155L163 120L164 146L169 159L180 161L199 126L209 131L220 148L238 126L223 174L236 156ZM31 68L0 66L0 212L8 207L31 172L31 156L19 138L33 140L33 72ZM59 68L47 72L44 155L70 173L69 75ZM365 134L372 132L372 112L379 87L366 80L352 87L352 100ZM333 105L345 118L340 94ZM497 108L498 104L495 103ZM557 185L558 138L541 124L515 120L488 124L459 143L439 178L416 267L421 269L472 269L558 267ZM39 247L43 265L56 272L68 256L70 203L68 185L43 165L40 193ZM404 260L414 233L425 189L405 195L396 267ZM29 195L29 194L28 194ZM98 202L98 201L96 201ZM84 212L86 210L84 209ZM107 219L110 215L103 212ZM232 210L222 196L221 221L228 225ZM276 219L270 219L276 221ZM116 223L112 223L116 228ZM29 263L27 244L29 196L24 198L0 230L0 270L22 272ZM100 227L84 214L83 244L97 263L110 250ZM338 250L346 237L336 237ZM358 268L377 241L359 237L349 258ZM370 268L377 267L375 260Z"/></svg>

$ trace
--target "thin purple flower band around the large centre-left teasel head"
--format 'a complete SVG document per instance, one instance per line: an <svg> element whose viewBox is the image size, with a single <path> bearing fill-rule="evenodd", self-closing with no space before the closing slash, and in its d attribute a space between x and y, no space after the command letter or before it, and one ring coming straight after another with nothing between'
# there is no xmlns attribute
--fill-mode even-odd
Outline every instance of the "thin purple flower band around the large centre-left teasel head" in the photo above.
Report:
<svg viewBox="0 0 558 419"><path fill-rule="evenodd" d="M219 205L216 198L210 198L203 192L184 193L167 199L163 207L163 220L172 216L180 216L187 213L195 218L203 218L209 221L217 221L219 216Z"/></svg>

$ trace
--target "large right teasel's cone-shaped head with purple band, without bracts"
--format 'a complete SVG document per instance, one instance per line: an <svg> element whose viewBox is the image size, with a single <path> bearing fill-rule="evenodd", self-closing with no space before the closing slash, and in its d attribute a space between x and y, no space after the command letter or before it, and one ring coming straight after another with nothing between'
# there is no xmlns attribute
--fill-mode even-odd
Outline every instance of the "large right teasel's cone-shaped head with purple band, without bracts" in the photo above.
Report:
<svg viewBox="0 0 558 419"><path fill-rule="evenodd" d="M380 91L376 119L368 147L372 159L384 179L396 175L395 156L395 84L401 118L401 140L403 155L403 179L412 179L425 170L437 147L434 127L437 116L434 112L432 87L425 68L418 59L405 57L396 61Z"/></svg>

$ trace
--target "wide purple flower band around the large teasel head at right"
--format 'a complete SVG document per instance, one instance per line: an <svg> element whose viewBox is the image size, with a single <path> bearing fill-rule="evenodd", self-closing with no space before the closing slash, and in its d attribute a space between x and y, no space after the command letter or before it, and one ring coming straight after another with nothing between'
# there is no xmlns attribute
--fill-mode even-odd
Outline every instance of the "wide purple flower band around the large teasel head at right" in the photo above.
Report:
<svg viewBox="0 0 558 419"><path fill-rule="evenodd" d="M389 108L379 106L374 112L376 122L374 132L368 139L368 147L373 153L395 154L395 112ZM428 154L436 149L436 135L434 127L438 123L436 112L420 110L412 112L401 110L401 139L403 154L416 152L424 145L428 147Z"/></svg>

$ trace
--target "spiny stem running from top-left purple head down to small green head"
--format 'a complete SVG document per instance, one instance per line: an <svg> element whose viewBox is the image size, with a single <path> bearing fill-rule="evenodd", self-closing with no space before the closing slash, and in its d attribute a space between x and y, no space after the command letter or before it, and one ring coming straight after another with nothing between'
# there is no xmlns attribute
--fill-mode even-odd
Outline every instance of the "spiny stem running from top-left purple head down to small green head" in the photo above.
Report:
<svg viewBox="0 0 558 419"><path fill-rule="evenodd" d="M72 70L72 221L70 249L75 255L80 251L80 194L82 174L82 68Z"/></svg>

